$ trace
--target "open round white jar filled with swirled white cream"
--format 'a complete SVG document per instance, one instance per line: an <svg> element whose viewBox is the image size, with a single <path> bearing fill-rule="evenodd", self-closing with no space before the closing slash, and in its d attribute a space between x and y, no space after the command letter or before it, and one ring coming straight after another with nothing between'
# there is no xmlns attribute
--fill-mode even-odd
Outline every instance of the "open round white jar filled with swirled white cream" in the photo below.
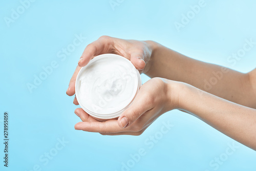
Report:
<svg viewBox="0 0 256 171"><path fill-rule="evenodd" d="M141 86L139 71L120 55L102 54L82 67L75 93L81 108L104 121L118 118L129 108Z"/></svg>

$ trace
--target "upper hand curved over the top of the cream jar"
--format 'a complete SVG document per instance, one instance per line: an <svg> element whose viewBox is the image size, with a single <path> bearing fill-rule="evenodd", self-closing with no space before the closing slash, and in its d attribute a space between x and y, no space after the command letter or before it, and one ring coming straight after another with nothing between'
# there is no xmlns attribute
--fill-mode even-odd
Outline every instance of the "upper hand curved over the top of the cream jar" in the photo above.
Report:
<svg viewBox="0 0 256 171"><path fill-rule="evenodd" d="M100 54L114 53L121 55L131 60L140 73L145 73L150 68L148 61L152 54L152 48L146 42L150 43L150 41L124 40L101 36L99 39L89 44L86 49L84 49L78 61L78 66L69 83L67 95L73 96L75 94L75 81L81 67L86 66L92 58ZM78 105L76 97L74 98L74 104Z"/></svg>

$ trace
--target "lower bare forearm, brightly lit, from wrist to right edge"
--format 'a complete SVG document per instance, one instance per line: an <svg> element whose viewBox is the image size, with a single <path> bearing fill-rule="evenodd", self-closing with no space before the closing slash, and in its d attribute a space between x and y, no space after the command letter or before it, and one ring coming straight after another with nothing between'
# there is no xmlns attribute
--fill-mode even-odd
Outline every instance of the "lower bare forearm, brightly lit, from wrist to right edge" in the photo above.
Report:
<svg viewBox="0 0 256 171"><path fill-rule="evenodd" d="M256 150L256 110L192 86L179 91L179 109L193 114L215 129Z"/></svg>

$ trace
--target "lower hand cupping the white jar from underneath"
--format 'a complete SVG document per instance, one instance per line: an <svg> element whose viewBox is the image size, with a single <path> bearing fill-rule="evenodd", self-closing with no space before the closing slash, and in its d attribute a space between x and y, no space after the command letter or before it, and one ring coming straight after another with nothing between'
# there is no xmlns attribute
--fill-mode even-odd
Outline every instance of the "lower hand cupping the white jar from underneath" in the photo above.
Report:
<svg viewBox="0 0 256 171"><path fill-rule="evenodd" d="M75 114L82 122L75 129L102 135L141 135L163 113L179 108L179 84L163 78L148 80L118 119L100 122L78 108Z"/></svg>

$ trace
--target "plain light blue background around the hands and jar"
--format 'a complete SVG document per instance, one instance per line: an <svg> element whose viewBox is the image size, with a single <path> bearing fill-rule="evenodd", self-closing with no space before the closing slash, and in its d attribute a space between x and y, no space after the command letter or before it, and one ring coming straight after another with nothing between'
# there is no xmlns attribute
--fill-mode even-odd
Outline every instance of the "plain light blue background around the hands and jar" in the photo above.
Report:
<svg viewBox="0 0 256 171"><path fill-rule="evenodd" d="M189 57L248 72L255 68L256 47L236 65L227 58L243 47L245 39L256 40L256 2L205 0L206 6L180 32L174 23L181 22L182 14L199 0L119 2L113 10L109 0L35 1L10 27L4 17L11 17L12 9L21 4L0 3L1 130L4 112L10 115L9 167L3 166L0 140L0 170L32 170L36 164L41 170L121 170L122 162L129 162L140 148L146 154L130 170L217 168L210 161L223 155L234 140L203 121L176 110L162 115L141 136L75 131L80 120L66 90L83 49L101 35L155 40ZM87 39L61 60L57 53L72 44L75 34ZM33 75L52 61L58 67L30 93L26 84L33 83ZM148 78L142 75L142 80ZM144 141L167 121L173 128L148 148ZM62 137L69 143L44 165L40 156ZM255 151L235 143L239 148L216 170L256 170Z"/></svg>

